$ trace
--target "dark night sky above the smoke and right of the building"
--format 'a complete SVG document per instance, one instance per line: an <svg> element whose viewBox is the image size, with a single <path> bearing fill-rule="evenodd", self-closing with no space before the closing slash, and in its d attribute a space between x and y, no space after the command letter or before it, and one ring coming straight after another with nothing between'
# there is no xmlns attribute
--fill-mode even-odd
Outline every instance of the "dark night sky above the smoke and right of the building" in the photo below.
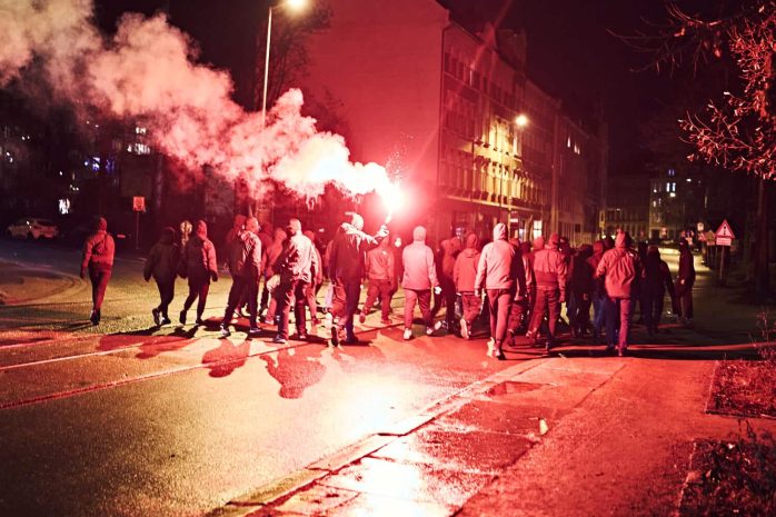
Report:
<svg viewBox="0 0 776 517"><path fill-rule="evenodd" d="M173 24L198 42L201 60L229 69L236 100L249 106L256 30L261 0L99 0L98 20L106 30L127 10L146 14L165 9ZM644 29L643 19L665 18L658 0L442 0L459 18L490 17L501 11L505 28L528 34L528 76L564 99L573 115L591 113L603 103L609 122L610 171L627 173L636 161L639 125L670 97L670 81L653 70L634 72L648 57L611 36ZM491 14L493 13L493 14Z"/></svg>

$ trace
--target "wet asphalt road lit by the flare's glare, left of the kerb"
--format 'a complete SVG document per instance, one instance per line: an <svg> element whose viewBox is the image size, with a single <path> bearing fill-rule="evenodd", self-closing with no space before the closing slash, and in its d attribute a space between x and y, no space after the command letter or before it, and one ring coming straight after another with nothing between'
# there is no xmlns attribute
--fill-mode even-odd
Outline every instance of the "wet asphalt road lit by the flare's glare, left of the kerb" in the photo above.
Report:
<svg viewBox="0 0 776 517"><path fill-rule="evenodd" d="M47 272L29 282L43 299L0 307L0 516L202 515L536 357L495 361L484 338L444 331L405 342L374 319L366 345L341 349L322 337L278 348L269 327L219 339L226 275L207 328L153 329L156 287L132 257L117 260L92 328L78 260L0 242L0 264ZM47 290L52 277L61 286Z"/></svg>

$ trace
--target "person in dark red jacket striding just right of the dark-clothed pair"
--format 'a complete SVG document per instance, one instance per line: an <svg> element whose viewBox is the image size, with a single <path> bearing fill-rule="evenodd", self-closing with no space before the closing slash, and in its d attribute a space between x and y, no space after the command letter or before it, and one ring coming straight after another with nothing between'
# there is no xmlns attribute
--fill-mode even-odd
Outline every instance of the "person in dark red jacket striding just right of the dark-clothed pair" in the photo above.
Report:
<svg viewBox="0 0 776 517"><path fill-rule="evenodd" d="M249 217L245 229L240 230L229 248L229 271L231 271L231 288L227 299L227 309L221 320L221 337L230 336L229 325L235 316L235 309L248 304L249 336L259 334L257 325L259 275L261 272L261 240L258 236L259 221Z"/></svg>

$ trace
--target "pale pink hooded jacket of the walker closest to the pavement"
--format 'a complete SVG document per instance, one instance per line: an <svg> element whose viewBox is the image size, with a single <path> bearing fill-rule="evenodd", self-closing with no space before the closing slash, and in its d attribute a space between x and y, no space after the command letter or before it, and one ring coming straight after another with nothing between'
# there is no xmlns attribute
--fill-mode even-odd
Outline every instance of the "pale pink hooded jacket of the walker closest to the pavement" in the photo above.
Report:
<svg viewBox="0 0 776 517"><path fill-rule="evenodd" d="M525 296L526 271L523 267L520 250L507 242L507 227L499 222L494 228L494 240L485 245L477 265L475 288L517 289L518 296Z"/></svg>

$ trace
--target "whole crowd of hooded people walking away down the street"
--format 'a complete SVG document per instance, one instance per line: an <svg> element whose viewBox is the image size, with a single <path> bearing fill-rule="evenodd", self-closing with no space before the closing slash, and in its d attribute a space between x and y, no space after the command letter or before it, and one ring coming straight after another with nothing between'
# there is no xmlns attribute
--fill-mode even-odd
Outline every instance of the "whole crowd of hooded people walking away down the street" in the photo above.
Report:
<svg viewBox="0 0 776 517"><path fill-rule="evenodd" d="M426 243L426 229L412 231L412 242L390 238L382 225L377 233L364 231L364 219L352 213L321 250L311 231L302 231L299 219L287 227L272 229L253 217L237 216L225 239L225 267L231 275L227 307L221 319L222 337L231 334L235 314L247 316L248 334L262 330L259 321L275 325L273 341L289 339L289 316L295 312L296 339L308 339L307 312L311 325L318 318L318 295L329 279L322 310L331 318L330 344L356 344L354 319L365 322L379 302L381 321L391 324L391 300L400 286L404 290L404 339L414 337L416 306L425 332L434 335L442 327L448 334L471 339L479 318L489 322L488 355L505 359L504 348L525 335L529 345L550 350L557 345L558 322L567 324L574 338L605 338L607 351L620 356L627 351L635 308L649 335L658 331L665 295L674 312L683 320L693 317L695 269L689 247L679 243L679 269L676 280L661 260L657 246L634 246L626 232L574 249L557 233L546 240L520 242L507 236L498 223L491 239L480 247L479 236L469 232L439 242L436 250ZM92 284L93 325L100 321L106 288L111 276L115 243L107 221L99 218L94 232L83 247L81 278ZM185 221L180 238L165 228L151 248L143 276L155 280L159 305L151 310L156 326L169 325L170 302L178 277L188 281L188 296L179 314L186 325L188 311L197 301L196 324L202 325L211 281L218 281L216 247L208 239L205 221ZM362 284L367 284L366 302L359 310ZM260 291L260 286L263 289ZM435 322L445 308L444 320ZM593 311L593 318L590 312Z"/></svg>

